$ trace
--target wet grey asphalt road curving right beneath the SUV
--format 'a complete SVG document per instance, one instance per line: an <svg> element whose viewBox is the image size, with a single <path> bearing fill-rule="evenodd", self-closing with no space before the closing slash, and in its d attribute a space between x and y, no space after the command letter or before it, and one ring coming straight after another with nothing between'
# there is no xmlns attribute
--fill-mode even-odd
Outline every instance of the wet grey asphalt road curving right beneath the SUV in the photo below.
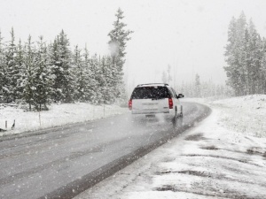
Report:
<svg viewBox="0 0 266 199"><path fill-rule="evenodd" d="M0 198L72 198L207 117L183 103L184 119L123 114L0 140Z"/></svg>

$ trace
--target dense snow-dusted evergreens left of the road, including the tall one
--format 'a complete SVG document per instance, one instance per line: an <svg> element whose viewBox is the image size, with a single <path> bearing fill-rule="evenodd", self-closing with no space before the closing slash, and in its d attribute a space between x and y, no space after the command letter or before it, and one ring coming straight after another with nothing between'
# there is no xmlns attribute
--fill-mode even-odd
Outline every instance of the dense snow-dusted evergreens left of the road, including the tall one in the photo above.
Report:
<svg viewBox="0 0 266 199"><path fill-rule="evenodd" d="M102 104L124 97L122 68L132 31L124 30L122 14L119 9L108 34L108 56L90 56L87 47L71 50L63 30L50 43L43 36L33 42L30 35L16 43L13 29L4 42L0 33L0 102L27 103L30 111L41 111L52 102Z"/></svg>

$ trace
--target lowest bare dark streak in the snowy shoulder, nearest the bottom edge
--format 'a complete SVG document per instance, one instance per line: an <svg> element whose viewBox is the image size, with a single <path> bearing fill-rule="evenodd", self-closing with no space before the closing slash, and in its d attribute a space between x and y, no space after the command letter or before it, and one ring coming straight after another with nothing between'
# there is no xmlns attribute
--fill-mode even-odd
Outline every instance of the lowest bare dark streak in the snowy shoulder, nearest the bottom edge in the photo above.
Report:
<svg viewBox="0 0 266 199"><path fill-rule="evenodd" d="M240 195L238 193L233 193L229 190L220 192L215 188L206 188L205 190L200 189L188 189L188 188L177 188L175 185L163 185L162 187L153 188L153 191L173 191L173 192L183 192L194 195L204 195L204 196L213 196L213 197L222 197L222 198L234 198L234 199L261 199L261 197L249 197L247 195Z"/></svg>

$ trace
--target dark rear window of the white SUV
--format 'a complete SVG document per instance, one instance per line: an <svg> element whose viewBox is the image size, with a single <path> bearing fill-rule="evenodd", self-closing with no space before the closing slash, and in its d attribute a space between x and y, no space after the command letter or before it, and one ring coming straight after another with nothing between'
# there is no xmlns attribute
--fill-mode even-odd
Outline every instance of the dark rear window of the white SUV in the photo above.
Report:
<svg viewBox="0 0 266 199"><path fill-rule="evenodd" d="M139 87L133 90L131 99L160 99L170 97L166 87Z"/></svg>

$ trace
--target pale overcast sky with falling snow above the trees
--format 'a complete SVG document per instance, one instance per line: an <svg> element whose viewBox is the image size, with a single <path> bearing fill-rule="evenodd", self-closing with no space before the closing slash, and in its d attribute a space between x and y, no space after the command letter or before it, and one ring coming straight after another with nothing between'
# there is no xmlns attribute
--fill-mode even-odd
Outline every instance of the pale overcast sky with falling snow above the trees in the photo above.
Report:
<svg viewBox="0 0 266 199"><path fill-rule="evenodd" d="M171 65L176 83L226 80L224 46L232 16L244 11L258 32L266 36L266 1L263 0L0 0L0 29L4 41L14 27L16 40L43 35L52 41L61 29L72 47L85 43L90 54L108 53L108 32L118 7L124 11L131 41L126 73L130 84L160 82Z"/></svg>

